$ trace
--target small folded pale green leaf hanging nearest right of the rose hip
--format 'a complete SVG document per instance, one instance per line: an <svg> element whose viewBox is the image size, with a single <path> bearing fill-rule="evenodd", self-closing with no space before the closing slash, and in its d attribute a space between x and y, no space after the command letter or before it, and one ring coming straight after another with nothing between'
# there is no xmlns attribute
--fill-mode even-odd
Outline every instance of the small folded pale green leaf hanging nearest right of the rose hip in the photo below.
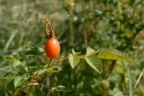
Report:
<svg viewBox="0 0 144 96"><path fill-rule="evenodd" d="M69 62L70 62L71 67L75 68L80 62L80 59L77 54L75 55L69 54Z"/></svg>

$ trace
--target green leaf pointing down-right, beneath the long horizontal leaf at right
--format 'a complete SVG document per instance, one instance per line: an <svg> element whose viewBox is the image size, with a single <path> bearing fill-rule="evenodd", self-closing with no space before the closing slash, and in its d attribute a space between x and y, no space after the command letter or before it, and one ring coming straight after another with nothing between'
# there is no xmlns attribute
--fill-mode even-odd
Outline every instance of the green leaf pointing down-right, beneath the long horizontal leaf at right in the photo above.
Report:
<svg viewBox="0 0 144 96"><path fill-rule="evenodd" d="M89 56L85 56L85 59L90 67L92 67L98 73L101 73L102 60L100 58L98 58L96 55L89 55Z"/></svg>

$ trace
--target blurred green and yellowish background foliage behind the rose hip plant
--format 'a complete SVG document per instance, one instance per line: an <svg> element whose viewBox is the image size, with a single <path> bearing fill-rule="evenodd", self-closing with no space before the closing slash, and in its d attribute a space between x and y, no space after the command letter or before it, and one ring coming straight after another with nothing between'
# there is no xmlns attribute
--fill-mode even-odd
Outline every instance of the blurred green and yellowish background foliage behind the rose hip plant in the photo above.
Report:
<svg viewBox="0 0 144 96"><path fill-rule="evenodd" d="M25 58L28 43L43 47L44 16L52 17L53 28L61 43L61 56L73 48L85 52L116 48L128 53L133 63L103 60L103 73L98 74L84 61L72 69L68 61L58 74L50 75L50 87L65 85L68 93L52 96L143 96L144 76L134 85L144 68L144 1L143 0L0 0L0 94L8 96L4 72L11 63L4 55ZM32 88L29 88L32 90ZM5 90L5 91L4 91ZM46 89L48 90L48 89ZM24 90L29 94L33 91ZM34 95L30 95L34 96Z"/></svg>

